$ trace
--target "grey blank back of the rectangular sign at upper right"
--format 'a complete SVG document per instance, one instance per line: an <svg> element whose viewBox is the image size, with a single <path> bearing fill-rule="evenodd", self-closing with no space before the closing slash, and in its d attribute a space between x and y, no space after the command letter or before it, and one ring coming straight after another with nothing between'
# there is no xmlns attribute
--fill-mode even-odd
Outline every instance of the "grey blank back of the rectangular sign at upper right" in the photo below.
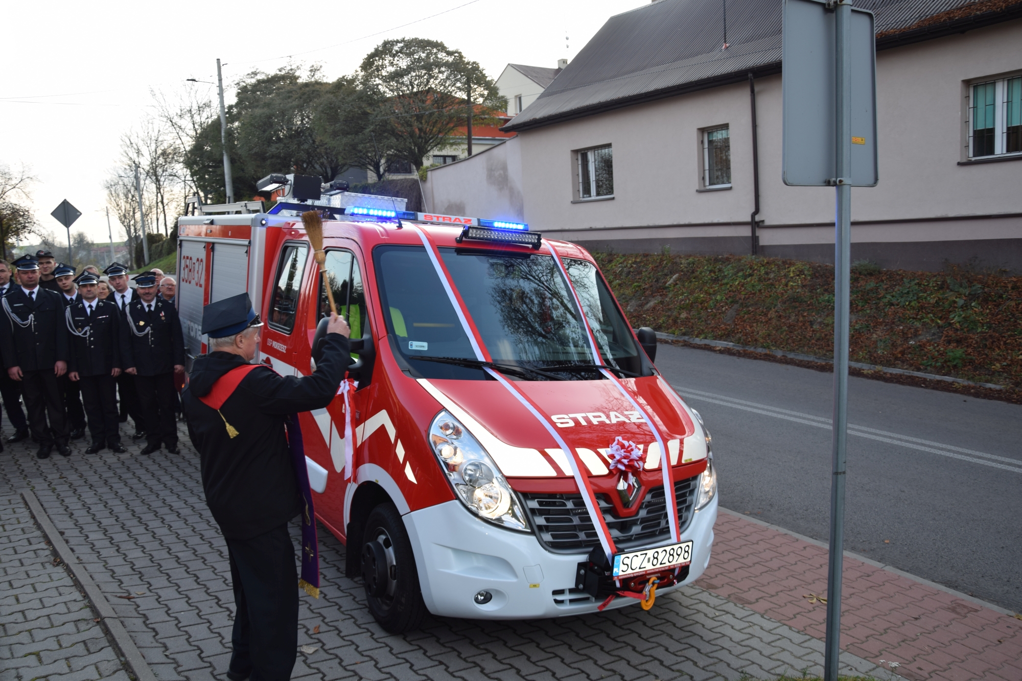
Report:
<svg viewBox="0 0 1022 681"><path fill-rule="evenodd" d="M876 50L873 13L852 7L851 186L877 184ZM834 10L819 0L785 0L781 88L784 183L827 186L837 172Z"/></svg>

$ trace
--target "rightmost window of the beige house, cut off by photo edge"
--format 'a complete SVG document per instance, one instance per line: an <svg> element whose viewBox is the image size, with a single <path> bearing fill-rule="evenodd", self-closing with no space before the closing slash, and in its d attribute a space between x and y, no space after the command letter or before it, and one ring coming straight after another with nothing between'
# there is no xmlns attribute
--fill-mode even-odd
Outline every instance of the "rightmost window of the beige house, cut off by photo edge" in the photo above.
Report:
<svg viewBox="0 0 1022 681"><path fill-rule="evenodd" d="M969 157L1022 153L1022 76L969 88Z"/></svg>

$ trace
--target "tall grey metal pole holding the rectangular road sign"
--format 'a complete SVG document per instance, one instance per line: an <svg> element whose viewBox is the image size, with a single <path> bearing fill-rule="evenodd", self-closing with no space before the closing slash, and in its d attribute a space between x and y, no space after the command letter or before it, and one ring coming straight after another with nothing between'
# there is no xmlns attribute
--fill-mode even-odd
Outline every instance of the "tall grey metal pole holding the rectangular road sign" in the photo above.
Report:
<svg viewBox="0 0 1022 681"><path fill-rule="evenodd" d="M845 445L848 421L848 296L851 249L851 0L835 7L834 425L824 680L837 681L841 653Z"/></svg>

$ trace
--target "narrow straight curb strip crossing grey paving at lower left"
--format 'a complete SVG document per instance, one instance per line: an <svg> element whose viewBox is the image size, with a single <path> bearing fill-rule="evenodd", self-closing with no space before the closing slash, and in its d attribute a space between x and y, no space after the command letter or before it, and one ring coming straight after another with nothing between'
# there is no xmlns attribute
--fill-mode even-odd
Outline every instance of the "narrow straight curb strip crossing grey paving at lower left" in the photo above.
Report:
<svg viewBox="0 0 1022 681"><path fill-rule="evenodd" d="M145 657L142 656L135 642L131 640L131 636L128 634L128 630L125 629L124 623L121 622L117 612L113 611L113 607L106 600L103 592L99 590L99 587L93 581L85 565L79 561L74 551L71 550L71 547L63 540L63 537L60 536L60 532L53 525L53 521L50 520L50 516L46 514L46 509L39 503L36 494L32 490L20 490L19 493L21 498L25 499L29 511L39 525L39 529L42 530L43 534L49 540L50 545L56 551L60 560L67 566L72 577L82 587L93 611L99 616L99 623L105 629L107 638L113 643L113 647L118 649L125 664L135 675L136 681L157 681L156 675L149 669Z"/></svg>

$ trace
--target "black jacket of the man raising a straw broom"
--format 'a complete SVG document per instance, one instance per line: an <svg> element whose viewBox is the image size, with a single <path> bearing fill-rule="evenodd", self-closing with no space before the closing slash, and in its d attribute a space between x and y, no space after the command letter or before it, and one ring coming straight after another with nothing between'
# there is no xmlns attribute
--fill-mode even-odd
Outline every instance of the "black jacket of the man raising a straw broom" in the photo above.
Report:
<svg viewBox="0 0 1022 681"><path fill-rule="evenodd" d="M205 501L225 537L256 537L300 511L284 419L330 404L351 362L349 352L347 338L329 333L323 361L309 376L281 376L270 367L253 369L220 413L198 398L208 395L222 375L243 365L244 358L215 352L195 359L181 406L188 435L201 456ZM227 435L224 419L238 430L237 437Z"/></svg>

